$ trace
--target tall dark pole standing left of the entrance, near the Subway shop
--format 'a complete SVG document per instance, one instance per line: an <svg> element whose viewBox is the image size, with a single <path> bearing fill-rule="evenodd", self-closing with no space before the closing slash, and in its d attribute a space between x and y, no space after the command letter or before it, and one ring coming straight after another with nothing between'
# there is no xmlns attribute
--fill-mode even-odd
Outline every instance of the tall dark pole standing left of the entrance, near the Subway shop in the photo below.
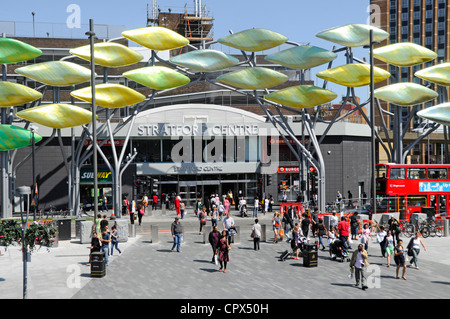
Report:
<svg viewBox="0 0 450 319"><path fill-rule="evenodd" d="M98 168L97 168L97 107L95 105L95 59L94 59L94 20L89 19L89 36L91 48L91 94L92 94L92 162L94 169L94 216L98 214Z"/></svg>

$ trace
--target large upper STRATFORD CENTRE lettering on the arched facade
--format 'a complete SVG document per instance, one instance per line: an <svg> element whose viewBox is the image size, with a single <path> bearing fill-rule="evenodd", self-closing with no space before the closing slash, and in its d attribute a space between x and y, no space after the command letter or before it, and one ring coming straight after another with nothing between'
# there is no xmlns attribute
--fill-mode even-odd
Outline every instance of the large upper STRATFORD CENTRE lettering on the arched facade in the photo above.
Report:
<svg viewBox="0 0 450 319"><path fill-rule="evenodd" d="M257 124L140 124L138 136L257 136Z"/></svg>

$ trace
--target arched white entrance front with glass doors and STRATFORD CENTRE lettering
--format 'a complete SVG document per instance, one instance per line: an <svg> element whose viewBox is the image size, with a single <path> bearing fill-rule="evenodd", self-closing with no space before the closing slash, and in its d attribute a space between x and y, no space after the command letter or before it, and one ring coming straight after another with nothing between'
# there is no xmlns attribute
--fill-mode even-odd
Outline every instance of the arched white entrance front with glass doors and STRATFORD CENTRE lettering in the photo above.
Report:
<svg viewBox="0 0 450 319"><path fill-rule="evenodd" d="M272 161L277 167L275 148L272 158L267 150L272 124L237 108L161 107L143 112L133 129L136 177L157 179L152 192L179 195L187 207L212 194L247 200L262 196L261 163Z"/></svg>

